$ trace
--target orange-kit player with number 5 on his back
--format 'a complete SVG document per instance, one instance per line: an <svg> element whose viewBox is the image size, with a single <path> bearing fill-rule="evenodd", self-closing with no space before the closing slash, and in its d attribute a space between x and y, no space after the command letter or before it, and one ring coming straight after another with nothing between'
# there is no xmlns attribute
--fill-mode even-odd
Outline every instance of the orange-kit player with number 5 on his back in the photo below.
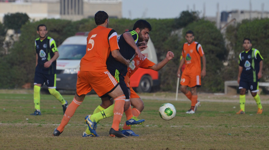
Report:
<svg viewBox="0 0 269 150"><path fill-rule="evenodd" d="M80 72L77 77L75 97L69 107L67 107L61 124L54 130L54 136L59 136L63 132L65 125L67 125L77 107L81 105L85 95L91 89L94 89L99 96L108 94L115 100L113 123L109 135L125 137L119 130L125 96L118 86L118 82L107 70L106 61L110 52L116 60L125 65L129 65L129 61L119 53L117 33L114 29L108 28L109 19L107 13L98 11L94 19L97 27L91 30L87 37L86 54L80 61ZM92 136L99 136L95 131L96 122L89 120L89 117L90 115L85 118L85 121Z"/></svg>

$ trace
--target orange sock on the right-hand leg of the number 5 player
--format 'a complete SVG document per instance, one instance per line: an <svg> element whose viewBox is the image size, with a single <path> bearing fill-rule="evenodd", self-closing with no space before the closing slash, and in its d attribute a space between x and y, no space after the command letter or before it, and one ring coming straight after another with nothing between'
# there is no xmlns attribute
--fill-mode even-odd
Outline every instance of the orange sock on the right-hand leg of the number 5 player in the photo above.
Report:
<svg viewBox="0 0 269 150"><path fill-rule="evenodd" d="M112 128L115 131L119 131L119 123L121 121L121 117L123 114L124 103L125 103L125 96L124 95L121 95L121 96L115 98L115 106L114 106L114 110L113 110L114 117L113 117L113 123L112 123Z"/></svg>

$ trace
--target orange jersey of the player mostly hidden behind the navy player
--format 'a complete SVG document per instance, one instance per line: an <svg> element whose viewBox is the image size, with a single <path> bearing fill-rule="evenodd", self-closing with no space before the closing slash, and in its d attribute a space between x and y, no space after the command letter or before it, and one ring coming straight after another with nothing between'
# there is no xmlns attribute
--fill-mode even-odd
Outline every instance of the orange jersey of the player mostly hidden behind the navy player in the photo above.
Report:
<svg viewBox="0 0 269 150"><path fill-rule="evenodd" d="M144 68L144 69L150 69L150 67L152 67L153 65L155 65L154 62L148 60L147 57L145 57L145 59L142 61L140 60L140 58L136 55L136 57L133 59L133 61L131 62L131 65L134 65L133 68L128 67L128 72L127 75L128 77L131 77L131 75L133 75L134 72L136 72L136 70L138 68ZM130 65L130 66L131 66Z"/></svg>

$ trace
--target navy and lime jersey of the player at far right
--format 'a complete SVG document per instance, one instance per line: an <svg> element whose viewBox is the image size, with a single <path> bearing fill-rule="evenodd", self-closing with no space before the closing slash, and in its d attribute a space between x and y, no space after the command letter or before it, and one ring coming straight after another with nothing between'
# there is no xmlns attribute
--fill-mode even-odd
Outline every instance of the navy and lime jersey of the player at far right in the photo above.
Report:
<svg viewBox="0 0 269 150"><path fill-rule="evenodd" d="M243 67L240 81L258 82L260 71L260 61L263 58L257 49L250 49L248 52L242 51L239 55L239 66Z"/></svg>

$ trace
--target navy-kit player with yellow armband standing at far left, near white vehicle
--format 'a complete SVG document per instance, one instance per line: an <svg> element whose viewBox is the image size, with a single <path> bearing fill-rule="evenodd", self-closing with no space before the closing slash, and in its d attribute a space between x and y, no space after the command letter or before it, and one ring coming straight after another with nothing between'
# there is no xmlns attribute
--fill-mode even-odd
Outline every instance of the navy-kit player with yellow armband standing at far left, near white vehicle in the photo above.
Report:
<svg viewBox="0 0 269 150"><path fill-rule="evenodd" d="M47 27L44 24L37 26L39 38L35 39L36 64L34 79L34 104L35 112L30 115L41 115L40 113L40 89L45 83L49 93L61 102L63 114L68 106L62 95L56 91L56 59L59 53L53 38L47 36Z"/></svg>

